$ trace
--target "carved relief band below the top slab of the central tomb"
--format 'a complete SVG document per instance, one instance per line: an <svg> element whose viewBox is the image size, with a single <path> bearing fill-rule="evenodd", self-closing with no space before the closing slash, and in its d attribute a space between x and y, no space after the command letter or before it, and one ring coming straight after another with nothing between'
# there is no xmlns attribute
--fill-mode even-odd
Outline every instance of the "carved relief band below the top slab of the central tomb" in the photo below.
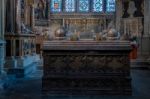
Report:
<svg viewBox="0 0 150 99"><path fill-rule="evenodd" d="M52 72L98 72L127 70L128 56L44 55L45 66ZM69 70L69 71L68 71Z"/></svg>

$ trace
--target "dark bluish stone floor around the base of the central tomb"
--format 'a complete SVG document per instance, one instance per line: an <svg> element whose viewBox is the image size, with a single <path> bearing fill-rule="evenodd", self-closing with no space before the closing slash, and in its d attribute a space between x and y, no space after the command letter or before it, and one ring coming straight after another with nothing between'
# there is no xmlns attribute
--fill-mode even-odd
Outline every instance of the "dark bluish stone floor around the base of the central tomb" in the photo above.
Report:
<svg viewBox="0 0 150 99"><path fill-rule="evenodd" d="M18 78L7 90L0 92L0 99L150 99L150 70L131 70L132 96L56 96L41 94L42 71Z"/></svg>

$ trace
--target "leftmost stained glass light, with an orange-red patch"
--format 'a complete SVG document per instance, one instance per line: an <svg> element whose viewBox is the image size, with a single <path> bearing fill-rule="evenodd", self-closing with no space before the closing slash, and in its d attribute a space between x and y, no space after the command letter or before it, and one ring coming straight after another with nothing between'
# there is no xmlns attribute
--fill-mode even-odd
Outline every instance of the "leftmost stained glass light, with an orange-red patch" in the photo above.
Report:
<svg viewBox="0 0 150 99"><path fill-rule="evenodd" d="M61 12L62 11L62 0L51 0L51 11Z"/></svg>

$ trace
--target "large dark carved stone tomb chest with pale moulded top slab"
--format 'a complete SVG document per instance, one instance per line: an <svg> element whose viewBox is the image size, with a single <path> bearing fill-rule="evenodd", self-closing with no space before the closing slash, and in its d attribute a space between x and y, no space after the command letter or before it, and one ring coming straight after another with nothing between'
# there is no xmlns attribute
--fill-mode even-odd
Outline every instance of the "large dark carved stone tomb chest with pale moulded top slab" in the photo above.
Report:
<svg viewBox="0 0 150 99"><path fill-rule="evenodd" d="M45 41L44 93L131 95L128 41Z"/></svg>

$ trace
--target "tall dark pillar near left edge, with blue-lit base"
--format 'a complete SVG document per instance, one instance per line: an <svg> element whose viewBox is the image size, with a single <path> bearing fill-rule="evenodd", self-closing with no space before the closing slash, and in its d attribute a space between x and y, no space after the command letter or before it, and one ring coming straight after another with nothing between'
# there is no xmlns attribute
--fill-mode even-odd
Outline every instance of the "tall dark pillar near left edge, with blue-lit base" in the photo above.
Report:
<svg viewBox="0 0 150 99"><path fill-rule="evenodd" d="M6 62L4 68L7 70L9 68L16 67L15 60L15 37L13 35L17 34L18 25L17 21L17 2L19 0L7 0L6 2L6 25L5 25L5 39L6 39L6 51L10 52L9 55L6 56Z"/></svg>

